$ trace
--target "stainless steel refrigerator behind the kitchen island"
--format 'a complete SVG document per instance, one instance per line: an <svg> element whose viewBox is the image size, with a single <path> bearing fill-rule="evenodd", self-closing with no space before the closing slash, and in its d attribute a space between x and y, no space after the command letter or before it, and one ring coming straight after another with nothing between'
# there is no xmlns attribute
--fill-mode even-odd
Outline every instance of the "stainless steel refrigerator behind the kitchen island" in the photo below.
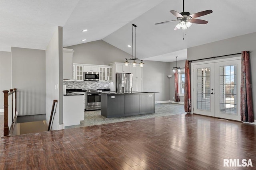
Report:
<svg viewBox="0 0 256 170"><path fill-rule="evenodd" d="M132 76L131 73L116 73L117 93L132 92Z"/></svg>

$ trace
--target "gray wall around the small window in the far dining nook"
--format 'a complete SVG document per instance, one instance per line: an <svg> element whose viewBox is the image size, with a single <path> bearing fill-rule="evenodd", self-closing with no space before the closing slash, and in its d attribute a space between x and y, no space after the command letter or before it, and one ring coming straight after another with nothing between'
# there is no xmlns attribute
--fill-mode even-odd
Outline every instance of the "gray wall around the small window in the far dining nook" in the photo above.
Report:
<svg viewBox="0 0 256 170"><path fill-rule="evenodd" d="M185 60L178 61L177 66L180 68L185 67ZM172 72L172 68L176 67L176 61L170 63L170 74L172 77L170 78L170 100L174 101L175 96L175 84L174 84L174 73ZM180 102L184 102L184 96L180 96Z"/></svg>

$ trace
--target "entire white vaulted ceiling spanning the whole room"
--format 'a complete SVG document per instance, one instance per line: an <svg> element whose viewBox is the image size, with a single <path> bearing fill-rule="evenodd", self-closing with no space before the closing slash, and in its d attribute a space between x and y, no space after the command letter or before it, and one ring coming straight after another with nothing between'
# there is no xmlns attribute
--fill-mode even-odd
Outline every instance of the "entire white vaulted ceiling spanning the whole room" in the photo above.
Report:
<svg viewBox="0 0 256 170"><path fill-rule="evenodd" d="M134 23L137 58L183 60L189 47L255 32L255 7L256 0L185 0L191 14L213 13L198 18L209 21L206 25L174 31L175 22L154 23L175 20L169 11L182 12L182 0L0 0L0 51L46 49L57 26L63 26L64 47L103 39L132 54L127 45Z"/></svg>

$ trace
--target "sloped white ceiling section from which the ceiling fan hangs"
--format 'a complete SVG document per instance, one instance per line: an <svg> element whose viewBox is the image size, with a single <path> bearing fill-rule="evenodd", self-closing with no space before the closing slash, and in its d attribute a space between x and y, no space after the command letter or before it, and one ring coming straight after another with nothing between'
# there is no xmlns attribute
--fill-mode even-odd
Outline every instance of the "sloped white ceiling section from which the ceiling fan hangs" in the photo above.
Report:
<svg viewBox="0 0 256 170"><path fill-rule="evenodd" d="M137 58L176 61L175 56L166 59L166 55L189 47L255 32L256 22L251 18L256 16L255 7L256 0L185 0L185 11L191 14L204 10L213 10L213 13L198 18L209 21L206 25L192 24L183 31L174 30L176 22L154 25L154 23L175 20L176 17L169 12L170 10L182 12L182 0L163 1L103 40L132 54L132 49L127 45L132 42L132 23L134 23L137 25ZM166 60L161 55L164 55ZM178 60L180 59L179 57Z"/></svg>

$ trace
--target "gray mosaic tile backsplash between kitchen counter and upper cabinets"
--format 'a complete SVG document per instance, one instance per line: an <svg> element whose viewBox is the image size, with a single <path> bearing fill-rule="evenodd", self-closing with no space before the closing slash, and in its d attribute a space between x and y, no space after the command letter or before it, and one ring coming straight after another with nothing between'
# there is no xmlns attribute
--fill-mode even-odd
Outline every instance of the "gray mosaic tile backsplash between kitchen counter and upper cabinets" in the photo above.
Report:
<svg viewBox="0 0 256 170"><path fill-rule="evenodd" d="M94 82L94 81L84 81L84 82L71 82L63 81L63 85L66 85L66 89L70 88L82 88L82 89L97 89L97 88L110 88L110 82ZM73 87L74 85L74 87Z"/></svg>

